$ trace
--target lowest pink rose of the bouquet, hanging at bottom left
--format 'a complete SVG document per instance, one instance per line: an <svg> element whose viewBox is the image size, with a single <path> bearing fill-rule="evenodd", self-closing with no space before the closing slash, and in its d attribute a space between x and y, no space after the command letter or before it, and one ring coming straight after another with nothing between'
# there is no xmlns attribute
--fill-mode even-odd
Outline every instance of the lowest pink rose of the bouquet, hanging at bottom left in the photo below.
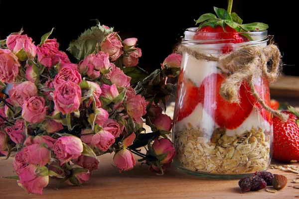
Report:
<svg viewBox="0 0 299 199"><path fill-rule="evenodd" d="M42 195L42 190L49 183L49 176L38 176L36 165L28 165L20 171L20 180L17 182L28 193Z"/></svg>

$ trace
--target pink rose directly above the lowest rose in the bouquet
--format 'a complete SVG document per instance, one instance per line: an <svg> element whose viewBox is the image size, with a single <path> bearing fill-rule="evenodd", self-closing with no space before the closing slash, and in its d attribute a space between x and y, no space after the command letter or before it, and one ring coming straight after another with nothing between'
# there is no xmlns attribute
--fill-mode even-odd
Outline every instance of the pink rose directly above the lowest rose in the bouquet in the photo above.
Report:
<svg viewBox="0 0 299 199"><path fill-rule="evenodd" d="M41 144L32 144L24 147L24 160L28 164L45 166L51 158L51 152Z"/></svg>

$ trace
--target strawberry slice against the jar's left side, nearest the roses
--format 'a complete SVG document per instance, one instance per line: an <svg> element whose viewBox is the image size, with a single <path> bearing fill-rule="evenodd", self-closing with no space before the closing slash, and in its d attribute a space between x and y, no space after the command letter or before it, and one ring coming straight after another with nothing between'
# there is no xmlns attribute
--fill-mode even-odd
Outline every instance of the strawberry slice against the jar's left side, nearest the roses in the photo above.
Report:
<svg viewBox="0 0 299 199"><path fill-rule="evenodd" d="M182 76L182 73L180 74ZM189 116L196 105L201 101L201 93L198 87L194 85L191 80L182 81L182 77L179 77L179 99L176 115L174 116L176 121L180 121L183 118Z"/></svg>

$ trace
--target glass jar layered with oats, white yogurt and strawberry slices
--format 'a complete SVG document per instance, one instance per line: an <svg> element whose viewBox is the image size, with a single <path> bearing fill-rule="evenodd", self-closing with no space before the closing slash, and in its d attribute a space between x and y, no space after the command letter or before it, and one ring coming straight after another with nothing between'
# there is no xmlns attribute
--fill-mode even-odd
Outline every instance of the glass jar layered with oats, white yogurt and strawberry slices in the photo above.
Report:
<svg viewBox="0 0 299 199"><path fill-rule="evenodd" d="M208 56L219 57L244 46L267 46L267 31L235 33L242 43L225 34L189 28L181 43ZM219 34L223 34L220 35ZM234 41L233 41L234 42ZM183 52L174 109L172 141L176 167L186 173L215 178L240 178L268 169L272 156L272 114L251 94L246 80L239 89L240 103L219 93L231 75L217 61L196 59ZM253 78L255 89L270 105L268 80Z"/></svg>

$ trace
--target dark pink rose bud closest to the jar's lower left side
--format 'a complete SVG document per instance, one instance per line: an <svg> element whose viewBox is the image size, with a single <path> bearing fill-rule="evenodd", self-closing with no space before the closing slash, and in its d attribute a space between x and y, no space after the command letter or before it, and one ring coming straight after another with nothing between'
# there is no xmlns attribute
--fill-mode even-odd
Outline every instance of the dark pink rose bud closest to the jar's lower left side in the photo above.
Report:
<svg viewBox="0 0 299 199"><path fill-rule="evenodd" d="M151 147L157 156L168 153L167 156L161 161L161 164L171 162L176 154L175 148L173 147L172 143L166 138L156 138Z"/></svg>

